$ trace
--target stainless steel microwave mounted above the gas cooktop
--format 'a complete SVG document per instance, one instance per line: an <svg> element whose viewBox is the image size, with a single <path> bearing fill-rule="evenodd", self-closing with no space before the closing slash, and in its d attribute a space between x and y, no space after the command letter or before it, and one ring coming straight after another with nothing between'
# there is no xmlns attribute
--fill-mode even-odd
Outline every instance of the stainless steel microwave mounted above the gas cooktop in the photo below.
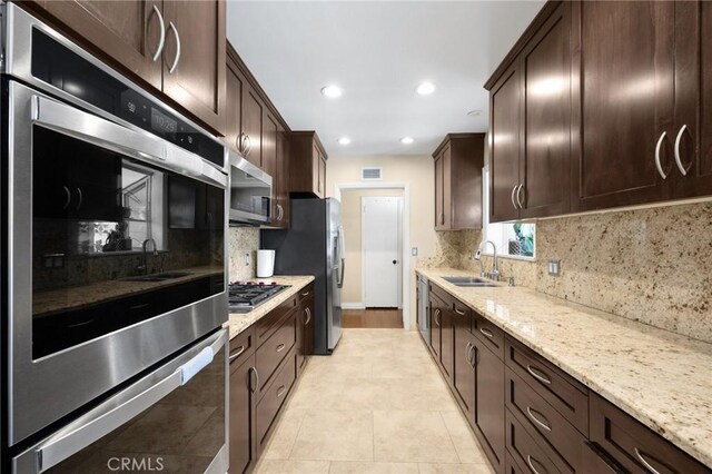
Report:
<svg viewBox="0 0 712 474"><path fill-rule="evenodd" d="M230 152L228 166L230 224L268 224L271 217L271 176L234 152Z"/></svg>

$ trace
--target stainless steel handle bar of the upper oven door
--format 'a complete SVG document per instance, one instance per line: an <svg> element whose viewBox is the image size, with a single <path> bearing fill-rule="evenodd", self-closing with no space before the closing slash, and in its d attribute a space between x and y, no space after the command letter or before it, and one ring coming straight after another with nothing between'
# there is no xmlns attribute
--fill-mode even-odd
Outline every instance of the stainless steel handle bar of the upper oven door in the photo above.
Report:
<svg viewBox="0 0 712 474"><path fill-rule="evenodd" d="M31 100L31 119L37 125L221 188L227 187L227 176L198 155L168 141L147 132L130 130L43 96L33 95Z"/></svg>

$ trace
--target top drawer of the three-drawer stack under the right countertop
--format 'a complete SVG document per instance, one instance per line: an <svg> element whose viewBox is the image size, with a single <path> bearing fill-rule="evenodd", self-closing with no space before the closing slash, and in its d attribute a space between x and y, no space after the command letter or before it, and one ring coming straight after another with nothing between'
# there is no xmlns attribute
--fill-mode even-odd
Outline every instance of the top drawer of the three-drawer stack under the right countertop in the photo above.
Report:
<svg viewBox="0 0 712 474"><path fill-rule="evenodd" d="M506 365L584 435L589 389L523 344L506 338Z"/></svg>

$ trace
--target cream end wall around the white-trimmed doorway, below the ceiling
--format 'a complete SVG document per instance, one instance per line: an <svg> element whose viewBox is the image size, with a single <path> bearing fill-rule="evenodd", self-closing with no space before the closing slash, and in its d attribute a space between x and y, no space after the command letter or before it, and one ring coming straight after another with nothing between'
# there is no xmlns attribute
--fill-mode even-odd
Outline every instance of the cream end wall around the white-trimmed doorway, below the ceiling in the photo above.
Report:
<svg viewBox="0 0 712 474"><path fill-rule="evenodd" d="M408 184L411 190L411 247L417 247L421 257L411 257L411 328L415 329L415 267L418 258L435 255L435 167L429 155L373 157L329 157L326 164L326 190L334 196L336 184L358 184L364 167L383 168L378 182ZM369 181L373 182L373 181ZM348 267L348 264L347 264Z"/></svg>

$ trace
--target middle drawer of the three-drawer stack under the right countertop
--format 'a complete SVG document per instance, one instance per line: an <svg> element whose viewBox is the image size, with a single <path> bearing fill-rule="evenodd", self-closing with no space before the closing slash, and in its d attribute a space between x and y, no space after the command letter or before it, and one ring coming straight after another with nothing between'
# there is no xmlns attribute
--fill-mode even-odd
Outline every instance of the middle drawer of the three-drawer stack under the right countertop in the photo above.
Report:
<svg viewBox="0 0 712 474"><path fill-rule="evenodd" d="M532 387L506 368L506 407L523 424L536 429L576 472L583 455L584 437Z"/></svg>

